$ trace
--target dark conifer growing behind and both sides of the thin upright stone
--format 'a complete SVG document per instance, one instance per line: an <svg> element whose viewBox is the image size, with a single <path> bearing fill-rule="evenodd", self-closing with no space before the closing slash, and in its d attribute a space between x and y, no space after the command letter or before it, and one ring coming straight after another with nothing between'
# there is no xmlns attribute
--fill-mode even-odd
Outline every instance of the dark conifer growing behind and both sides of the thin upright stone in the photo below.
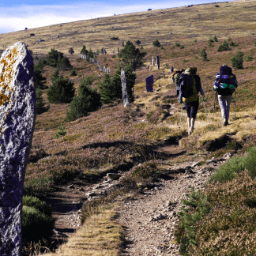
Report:
<svg viewBox="0 0 256 256"><path fill-rule="evenodd" d="M105 74L104 80L99 83L99 92L103 104L109 104L117 99L122 99L122 83L121 83L122 66L118 63L117 70L113 77L108 73ZM126 85L130 102L134 100L133 88L135 85L136 74L130 64L124 67L126 73Z"/></svg>

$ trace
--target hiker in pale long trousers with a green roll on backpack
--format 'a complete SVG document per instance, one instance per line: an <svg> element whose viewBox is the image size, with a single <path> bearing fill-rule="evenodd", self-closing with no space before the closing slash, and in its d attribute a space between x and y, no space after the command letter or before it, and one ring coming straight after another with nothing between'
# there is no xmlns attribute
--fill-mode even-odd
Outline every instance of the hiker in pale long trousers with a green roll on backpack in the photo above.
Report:
<svg viewBox="0 0 256 256"><path fill-rule="evenodd" d="M228 126L232 94L235 92L237 86L236 77L232 73L232 68L227 65L220 66L220 73L216 73L216 81L213 84L213 90L216 91L220 104L223 126Z"/></svg>

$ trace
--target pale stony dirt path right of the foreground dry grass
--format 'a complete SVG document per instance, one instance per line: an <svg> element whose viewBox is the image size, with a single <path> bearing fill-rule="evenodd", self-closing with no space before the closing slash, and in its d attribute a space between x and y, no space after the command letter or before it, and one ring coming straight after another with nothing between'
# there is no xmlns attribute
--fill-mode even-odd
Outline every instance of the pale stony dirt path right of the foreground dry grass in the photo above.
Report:
<svg viewBox="0 0 256 256"><path fill-rule="evenodd" d="M122 256L179 255L174 229L179 221L177 213L182 206L181 199L186 198L191 186L202 188L209 175L224 161L209 160L202 166L193 161L175 164L166 170L174 179L162 180L141 198L123 201L119 222L126 226L125 238L129 243Z"/></svg>

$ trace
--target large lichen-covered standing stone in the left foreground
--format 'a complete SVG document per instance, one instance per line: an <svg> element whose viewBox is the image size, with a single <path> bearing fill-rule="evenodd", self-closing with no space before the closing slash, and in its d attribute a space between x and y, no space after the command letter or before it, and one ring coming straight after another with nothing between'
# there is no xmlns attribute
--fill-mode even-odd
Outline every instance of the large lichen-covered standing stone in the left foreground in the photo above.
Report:
<svg viewBox="0 0 256 256"><path fill-rule="evenodd" d="M24 172L36 120L33 60L24 43L0 58L0 255L21 255Z"/></svg>

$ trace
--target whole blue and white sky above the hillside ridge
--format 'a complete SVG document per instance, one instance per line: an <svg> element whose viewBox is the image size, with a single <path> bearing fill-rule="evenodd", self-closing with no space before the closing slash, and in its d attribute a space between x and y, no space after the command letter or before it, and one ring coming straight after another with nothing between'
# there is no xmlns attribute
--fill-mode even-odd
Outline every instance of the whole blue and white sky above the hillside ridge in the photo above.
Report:
<svg viewBox="0 0 256 256"><path fill-rule="evenodd" d="M36 2L36 4L35 4ZM51 24L88 20L115 14L136 13L151 9L196 5L210 0L2 0L0 2L0 33L14 32L24 28L38 28ZM216 2L227 2L219 0Z"/></svg>

